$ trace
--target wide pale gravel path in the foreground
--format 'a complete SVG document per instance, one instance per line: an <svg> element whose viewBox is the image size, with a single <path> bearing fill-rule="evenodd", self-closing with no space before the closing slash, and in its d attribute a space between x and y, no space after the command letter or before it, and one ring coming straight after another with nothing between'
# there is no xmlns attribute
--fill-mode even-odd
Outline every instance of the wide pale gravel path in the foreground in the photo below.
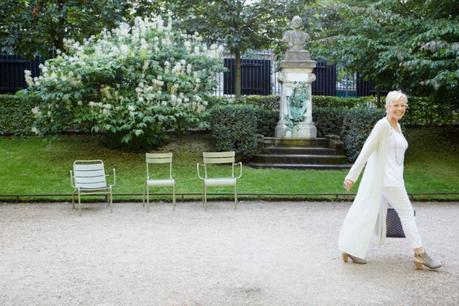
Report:
<svg viewBox="0 0 459 306"><path fill-rule="evenodd" d="M0 205L0 305L458 305L459 203L415 203L439 272L406 239L343 264L350 203Z"/></svg>

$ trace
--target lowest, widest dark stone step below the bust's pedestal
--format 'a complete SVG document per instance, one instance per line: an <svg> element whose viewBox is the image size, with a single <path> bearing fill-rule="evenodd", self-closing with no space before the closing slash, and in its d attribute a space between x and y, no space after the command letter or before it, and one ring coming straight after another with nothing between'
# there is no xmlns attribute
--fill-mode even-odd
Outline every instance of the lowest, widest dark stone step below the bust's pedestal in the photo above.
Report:
<svg viewBox="0 0 459 306"><path fill-rule="evenodd" d="M344 155L322 154L256 154L254 160L257 163L271 164L347 164Z"/></svg>

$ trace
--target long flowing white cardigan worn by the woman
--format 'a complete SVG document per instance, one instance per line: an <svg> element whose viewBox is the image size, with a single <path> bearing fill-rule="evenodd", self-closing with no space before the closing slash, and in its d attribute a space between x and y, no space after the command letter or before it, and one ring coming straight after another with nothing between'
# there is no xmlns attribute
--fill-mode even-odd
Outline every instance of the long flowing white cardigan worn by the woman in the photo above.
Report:
<svg viewBox="0 0 459 306"><path fill-rule="evenodd" d="M387 203L383 199L384 168L389 151L388 139L393 133L387 118L380 119L368 136L346 179L357 181L365 171L357 195L344 219L339 234L339 249L365 258L373 234L379 243L386 236Z"/></svg>

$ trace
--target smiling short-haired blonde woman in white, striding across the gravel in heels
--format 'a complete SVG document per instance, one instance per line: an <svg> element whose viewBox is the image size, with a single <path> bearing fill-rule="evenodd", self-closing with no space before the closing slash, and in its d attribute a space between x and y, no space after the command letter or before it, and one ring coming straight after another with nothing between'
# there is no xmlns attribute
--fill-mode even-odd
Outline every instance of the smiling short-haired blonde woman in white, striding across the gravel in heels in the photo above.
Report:
<svg viewBox="0 0 459 306"><path fill-rule="evenodd" d="M403 161L408 143L398 121L405 114L407 103L408 98L400 91L387 94L387 115L374 126L344 180L344 188L349 191L366 164L357 195L339 234L339 249L344 262L350 258L354 263L367 263L365 257L373 233L380 243L384 241L389 203L397 211L405 236L414 249L416 268L441 267L422 245L403 181Z"/></svg>

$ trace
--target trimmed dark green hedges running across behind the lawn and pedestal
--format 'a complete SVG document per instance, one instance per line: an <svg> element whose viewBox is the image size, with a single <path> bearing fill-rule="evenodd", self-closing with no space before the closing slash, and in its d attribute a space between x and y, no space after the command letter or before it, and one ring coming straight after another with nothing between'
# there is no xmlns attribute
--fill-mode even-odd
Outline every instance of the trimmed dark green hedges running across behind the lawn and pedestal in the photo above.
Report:
<svg viewBox="0 0 459 306"><path fill-rule="evenodd" d="M273 136L279 116L279 96L244 96L235 104L232 97L207 97L208 112L200 128L209 128L219 150L235 150L249 157L256 150L257 134ZM240 104L242 103L242 104ZM374 103L373 97L340 98L313 96L313 120L318 134L340 135L349 160L354 161L384 110L364 107ZM0 95L0 136L29 135L34 121L31 109L38 98L20 95ZM447 125L457 118L454 105L436 103L429 98L410 97L409 110L402 124ZM72 130L85 131L84 127Z"/></svg>

